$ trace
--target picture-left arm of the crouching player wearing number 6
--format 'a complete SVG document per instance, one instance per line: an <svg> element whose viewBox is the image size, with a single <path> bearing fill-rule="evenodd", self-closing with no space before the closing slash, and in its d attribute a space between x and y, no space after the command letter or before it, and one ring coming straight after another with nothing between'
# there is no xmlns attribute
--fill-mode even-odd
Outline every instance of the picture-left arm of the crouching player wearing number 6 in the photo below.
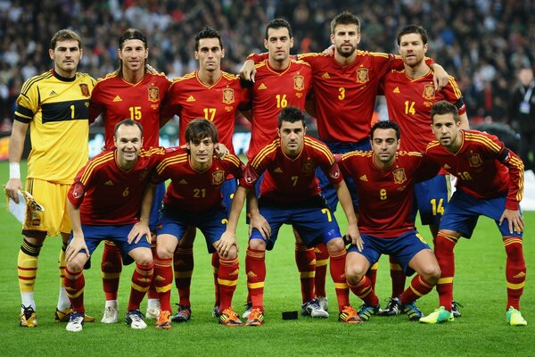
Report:
<svg viewBox="0 0 535 357"><path fill-rule="evenodd" d="M69 210L70 223L72 225L72 239L65 251L66 262L72 262L76 254L83 251L89 257L89 249L87 249L80 219L80 205L84 200L85 194L85 187L78 181L74 181L67 194L67 209Z"/></svg>

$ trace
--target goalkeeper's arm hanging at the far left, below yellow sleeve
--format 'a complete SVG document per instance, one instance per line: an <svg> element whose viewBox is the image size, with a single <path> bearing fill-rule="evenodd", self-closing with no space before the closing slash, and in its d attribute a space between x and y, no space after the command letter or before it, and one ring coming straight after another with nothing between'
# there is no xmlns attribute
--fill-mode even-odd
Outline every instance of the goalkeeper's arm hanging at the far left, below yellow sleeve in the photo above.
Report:
<svg viewBox="0 0 535 357"><path fill-rule="evenodd" d="M22 189L21 158L28 126L28 123L13 120L12 135L9 139L9 180L5 184L5 193L15 203L19 203L17 191Z"/></svg>

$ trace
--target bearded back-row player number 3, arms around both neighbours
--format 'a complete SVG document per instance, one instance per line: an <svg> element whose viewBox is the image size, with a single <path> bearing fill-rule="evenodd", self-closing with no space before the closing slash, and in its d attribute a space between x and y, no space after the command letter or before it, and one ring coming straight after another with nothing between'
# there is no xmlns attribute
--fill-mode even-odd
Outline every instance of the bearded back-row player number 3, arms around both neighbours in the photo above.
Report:
<svg viewBox="0 0 535 357"><path fill-rule="evenodd" d="M335 46L333 56L298 55L312 69L317 133L336 154L369 150L368 133L379 81L391 68L401 67L402 62L393 54L358 50L360 21L350 12L342 12L331 21L331 41ZM251 59L257 62L265 57L266 54L255 54ZM258 82L258 75L252 74L251 62L245 63L243 76ZM436 63L428 62L435 70L437 87L442 87L448 81L448 74ZM338 200L332 185L321 172L318 178L329 206L335 211ZM351 186L349 181L348 187ZM353 202L357 206L356 199Z"/></svg>

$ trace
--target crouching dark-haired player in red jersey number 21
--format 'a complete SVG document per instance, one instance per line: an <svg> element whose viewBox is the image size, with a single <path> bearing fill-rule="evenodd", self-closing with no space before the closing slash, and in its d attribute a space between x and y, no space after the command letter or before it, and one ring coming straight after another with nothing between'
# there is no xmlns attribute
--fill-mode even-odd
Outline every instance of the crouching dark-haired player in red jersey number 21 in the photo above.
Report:
<svg viewBox="0 0 535 357"><path fill-rule="evenodd" d="M161 313L156 328L171 328L172 257L178 241L189 227L199 228L208 251L218 252L219 323L240 326L242 321L231 307L238 283L237 243L223 236L227 214L221 186L230 174L239 179L243 163L235 155L214 157L218 129L210 120L192 120L185 129L186 147L169 152L156 168L153 182L171 179L164 199L161 228L158 229L156 287ZM229 239L230 238L230 239Z"/></svg>

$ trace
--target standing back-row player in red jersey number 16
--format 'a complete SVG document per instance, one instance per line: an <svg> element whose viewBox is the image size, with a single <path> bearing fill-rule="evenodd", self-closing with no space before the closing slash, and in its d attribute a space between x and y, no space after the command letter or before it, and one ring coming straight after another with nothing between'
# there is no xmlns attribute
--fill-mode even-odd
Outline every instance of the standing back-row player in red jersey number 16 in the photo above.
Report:
<svg viewBox="0 0 535 357"><path fill-rule="evenodd" d="M268 58L256 65L256 81L251 88L251 143L247 151L249 160L277 137L276 118L281 110L287 106L305 109L311 88L312 71L309 64L290 58L293 37L288 21L274 19L268 22L264 46L268 50ZM257 194L261 180L259 179L256 187ZM329 314L326 311L328 306L325 295L325 274L329 253L323 244L307 248L295 230L294 235L295 262L300 271L301 313L326 318ZM315 271L317 266L320 268ZM248 316L249 311L251 311L250 301L247 303L243 318Z"/></svg>

